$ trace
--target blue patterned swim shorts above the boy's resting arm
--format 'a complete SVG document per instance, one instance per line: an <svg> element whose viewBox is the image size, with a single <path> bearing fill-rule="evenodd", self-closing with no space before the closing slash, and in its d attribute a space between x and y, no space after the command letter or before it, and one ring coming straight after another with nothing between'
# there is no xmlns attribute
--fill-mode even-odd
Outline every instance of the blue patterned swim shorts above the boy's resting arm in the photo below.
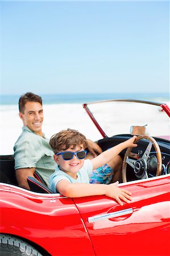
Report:
<svg viewBox="0 0 170 256"><path fill-rule="evenodd" d="M89 177L90 183L109 184L113 177L113 174L114 171L111 169L111 167L108 166L108 164L105 164L104 166L93 170L92 174Z"/></svg>

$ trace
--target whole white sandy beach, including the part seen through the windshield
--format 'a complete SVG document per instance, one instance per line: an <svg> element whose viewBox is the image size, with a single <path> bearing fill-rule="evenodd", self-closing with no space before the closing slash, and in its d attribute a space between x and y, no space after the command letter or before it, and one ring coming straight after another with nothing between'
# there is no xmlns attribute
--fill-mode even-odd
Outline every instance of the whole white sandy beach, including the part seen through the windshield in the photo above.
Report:
<svg viewBox="0 0 170 256"><path fill-rule="evenodd" d="M122 110L127 109L127 107L127 105L124 105ZM97 120L102 122L102 127L105 131L108 131L107 135L109 137L115 134L130 133L131 119L134 116L135 123L132 125L146 125L142 121L144 119L144 121L150 123L149 126L154 131L155 136L169 135L169 119L167 115L165 113L162 114L155 106L150 108L150 112L148 112L148 106L144 108L146 109L138 109L138 114L128 114L126 118L118 120L121 109L114 108L114 113L111 112L112 115L110 118L104 106L101 107L97 104L95 117L98 115ZM94 126L88 114L82 108L82 104L44 104L43 110L43 132L47 138L51 138L53 134L58 133L60 130L71 128L80 131L86 138L92 139L93 141L102 139L96 126ZM164 118L162 118L162 115ZM115 124L118 124L117 130L115 130ZM13 154L13 146L22 132L22 126L23 123L18 115L18 105L2 105L1 155ZM110 130L108 130L108 127ZM160 134L160 131L163 134Z"/></svg>

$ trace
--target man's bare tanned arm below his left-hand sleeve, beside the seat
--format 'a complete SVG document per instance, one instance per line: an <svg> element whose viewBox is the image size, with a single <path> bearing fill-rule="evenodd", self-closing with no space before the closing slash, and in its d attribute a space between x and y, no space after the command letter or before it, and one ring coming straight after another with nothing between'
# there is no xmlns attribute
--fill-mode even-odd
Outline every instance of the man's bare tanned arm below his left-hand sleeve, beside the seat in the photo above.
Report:
<svg viewBox="0 0 170 256"><path fill-rule="evenodd" d="M16 180L18 181L19 187L30 190L30 187L27 182L27 177L34 177L35 167L34 168L23 168L15 171Z"/></svg>

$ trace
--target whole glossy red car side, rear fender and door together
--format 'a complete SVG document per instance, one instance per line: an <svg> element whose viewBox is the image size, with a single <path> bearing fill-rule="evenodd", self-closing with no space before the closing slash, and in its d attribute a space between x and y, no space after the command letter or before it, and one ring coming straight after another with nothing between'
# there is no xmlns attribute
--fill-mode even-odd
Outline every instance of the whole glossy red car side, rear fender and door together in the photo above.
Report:
<svg viewBox="0 0 170 256"><path fill-rule="evenodd" d="M123 206L106 196L70 199L2 185L1 233L22 236L51 255L136 255L138 251L138 255L168 256L169 184L169 175L121 184L132 192L131 203ZM88 222L89 217L129 208L131 214ZM157 246L160 237L164 246Z"/></svg>

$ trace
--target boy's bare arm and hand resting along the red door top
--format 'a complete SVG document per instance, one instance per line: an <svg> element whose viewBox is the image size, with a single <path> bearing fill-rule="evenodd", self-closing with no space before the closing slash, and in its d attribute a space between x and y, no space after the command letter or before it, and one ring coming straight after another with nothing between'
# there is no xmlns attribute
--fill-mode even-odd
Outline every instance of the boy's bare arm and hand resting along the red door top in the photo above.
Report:
<svg viewBox="0 0 170 256"><path fill-rule="evenodd" d="M118 188L117 185L118 181L107 185L70 183L67 180L60 180L56 185L56 189L63 196L67 197L106 195L115 199L120 205L123 205L122 201L129 203L129 200L131 200L131 192L127 191L126 189Z"/></svg>

